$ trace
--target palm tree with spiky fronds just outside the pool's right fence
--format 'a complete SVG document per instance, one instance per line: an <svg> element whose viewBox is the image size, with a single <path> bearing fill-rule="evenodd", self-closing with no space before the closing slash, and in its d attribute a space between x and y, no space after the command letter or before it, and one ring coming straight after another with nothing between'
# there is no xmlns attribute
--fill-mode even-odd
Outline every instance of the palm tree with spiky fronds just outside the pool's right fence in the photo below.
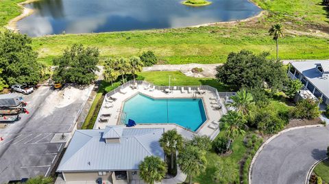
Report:
<svg viewBox="0 0 329 184"><path fill-rule="evenodd" d="M239 111L243 115L243 118L249 113L249 107L254 102L254 98L252 94L246 92L245 90L241 90L236 92L235 96L231 96L232 103L229 104L231 107L235 107L236 111Z"/></svg>

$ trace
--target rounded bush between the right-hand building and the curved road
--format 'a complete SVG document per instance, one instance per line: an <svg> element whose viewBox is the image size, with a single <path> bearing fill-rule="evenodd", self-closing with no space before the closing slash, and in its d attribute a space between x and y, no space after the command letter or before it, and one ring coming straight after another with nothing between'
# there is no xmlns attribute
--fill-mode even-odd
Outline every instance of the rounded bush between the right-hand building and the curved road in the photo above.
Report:
<svg viewBox="0 0 329 184"><path fill-rule="evenodd" d="M294 118L306 118L313 120L320 116L319 103L312 98L302 99L291 111Z"/></svg>

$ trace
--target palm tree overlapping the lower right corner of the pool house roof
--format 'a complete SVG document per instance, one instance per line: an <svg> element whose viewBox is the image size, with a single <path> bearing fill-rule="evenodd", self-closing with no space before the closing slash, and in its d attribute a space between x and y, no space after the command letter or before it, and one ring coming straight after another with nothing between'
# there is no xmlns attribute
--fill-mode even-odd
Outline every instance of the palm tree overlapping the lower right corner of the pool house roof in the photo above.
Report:
<svg viewBox="0 0 329 184"><path fill-rule="evenodd" d="M167 173L167 164L155 156L145 157L138 168L141 179L149 184L162 181Z"/></svg>

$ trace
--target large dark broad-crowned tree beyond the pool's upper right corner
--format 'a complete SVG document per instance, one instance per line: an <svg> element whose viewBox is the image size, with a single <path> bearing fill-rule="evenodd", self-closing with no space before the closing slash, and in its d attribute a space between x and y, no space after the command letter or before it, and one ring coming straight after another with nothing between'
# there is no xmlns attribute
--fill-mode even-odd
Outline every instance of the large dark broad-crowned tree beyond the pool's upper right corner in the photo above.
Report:
<svg viewBox="0 0 329 184"><path fill-rule="evenodd" d="M254 55L245 50L230 53L227 62L217 67L217 80L236 90L242 87L281 90L287 73L282 62L269 60L267 56L269 53Z"/></svg>

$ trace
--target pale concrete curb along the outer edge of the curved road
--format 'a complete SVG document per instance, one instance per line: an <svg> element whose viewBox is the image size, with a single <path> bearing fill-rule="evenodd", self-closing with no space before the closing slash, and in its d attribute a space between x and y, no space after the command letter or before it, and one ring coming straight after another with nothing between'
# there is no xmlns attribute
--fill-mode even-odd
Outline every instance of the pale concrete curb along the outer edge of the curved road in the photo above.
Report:
<svg viewBox="0 0 329 184"><path fill-rule="evenodd" d="M249 180L249 184L252 184L252 166L254 166L254 163L259 155L259 153L263 150L264 146L266 146L267 144L269 144L269 142L271 142L271 140L275 139L276 137L278 137L279 135L281 135L282 133L286 133L288 131L293 131L293 130L297 130L297 129L304 129L304 128L313 128L313 127L324 127L324 124L315 124L315 125L306 125L306 126L300 126L300 127L293 127L290 129L284 129L283 131L280 131L279 133L277 133L276 135L273 135L272 137L269 137L269 139L267 141L265 141L262 146L260 146L257 150L257 152L255 153L254 157L252 158L252 162L250 163L249 166L249 176L248 176L248 180Z"/></svg>

